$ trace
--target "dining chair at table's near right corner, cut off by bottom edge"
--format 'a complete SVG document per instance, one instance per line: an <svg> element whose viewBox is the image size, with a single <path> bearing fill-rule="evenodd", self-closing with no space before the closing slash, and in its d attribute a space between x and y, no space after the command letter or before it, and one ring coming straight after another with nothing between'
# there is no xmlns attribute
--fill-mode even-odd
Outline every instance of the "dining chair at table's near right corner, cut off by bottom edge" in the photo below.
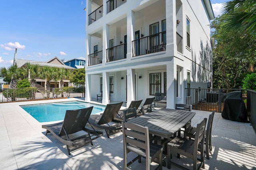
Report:
<svg viewBox="0 0 256 170"><path fill-rule="evenodd" d="M204 145L200 145L200 158L197 158L198 154L198 144L204 143L204 132L206 126L207 118L204 118L196 126L196 133L194 140L186 139L185 137L175 137L167 143L167 168L171 168L171 153L177 153L177 157L180 158L180 154L186 156L193 160L193 169L197 170L200 168L204 169ZM197 166L200 161L199 166ZM175 164L175 163L174 163ZM179 168L184 168L183 166L176 164Z"/></svg>

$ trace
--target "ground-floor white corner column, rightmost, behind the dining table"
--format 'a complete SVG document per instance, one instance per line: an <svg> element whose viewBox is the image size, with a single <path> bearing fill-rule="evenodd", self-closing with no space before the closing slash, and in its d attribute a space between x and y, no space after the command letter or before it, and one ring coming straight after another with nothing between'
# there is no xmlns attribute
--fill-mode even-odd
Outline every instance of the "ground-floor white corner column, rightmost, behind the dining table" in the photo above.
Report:
<svg viewBox="0 0 256 170"><path fill-rule="evenodd" d="M177 80L177 65L173 62L171 64L166 65L166 90L167 90L167 101L166 101L166 108L174 109L175 102L176 102L176 80Z"/></svg>

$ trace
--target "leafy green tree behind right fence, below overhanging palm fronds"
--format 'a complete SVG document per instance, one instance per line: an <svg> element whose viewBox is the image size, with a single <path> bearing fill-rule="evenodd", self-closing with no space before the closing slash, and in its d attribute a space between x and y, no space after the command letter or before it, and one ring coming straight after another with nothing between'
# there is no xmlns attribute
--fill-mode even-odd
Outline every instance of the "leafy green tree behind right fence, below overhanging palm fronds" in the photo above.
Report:
<svg viewBox="0 0 256 170"><path fill-rule="evenodd" d="M256 39L243 29L228 30L225 17L219 16L211 24L217 42L212 51L214 88L238 88L246 73L254 69Z"/></svg>

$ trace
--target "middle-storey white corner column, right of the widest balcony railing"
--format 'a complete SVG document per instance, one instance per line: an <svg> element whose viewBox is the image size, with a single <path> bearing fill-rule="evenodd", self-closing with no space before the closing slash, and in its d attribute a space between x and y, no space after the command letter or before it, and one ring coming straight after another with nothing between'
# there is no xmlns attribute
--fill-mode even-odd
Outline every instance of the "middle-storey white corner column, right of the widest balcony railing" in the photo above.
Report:
<svg viewBox="0 0 256 170"><path fill-rule="evenodd" d="M176 1L166 0L166 53L170 56L174 56L174 45L176 45Z"/></svg>

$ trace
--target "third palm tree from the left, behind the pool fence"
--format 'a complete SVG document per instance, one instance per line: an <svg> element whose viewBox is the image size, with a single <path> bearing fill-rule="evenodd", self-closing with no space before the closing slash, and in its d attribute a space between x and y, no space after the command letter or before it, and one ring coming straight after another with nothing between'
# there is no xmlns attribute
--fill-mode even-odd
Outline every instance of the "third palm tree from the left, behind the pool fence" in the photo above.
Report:
<svg viewBox="0 0 256 170"><path fill-rule="evenodd" d="M39 77L42 79L46 79L46 96L50 98L50 80L56 81L56 68L50 66L43 66L39 71Z"/></svg>

